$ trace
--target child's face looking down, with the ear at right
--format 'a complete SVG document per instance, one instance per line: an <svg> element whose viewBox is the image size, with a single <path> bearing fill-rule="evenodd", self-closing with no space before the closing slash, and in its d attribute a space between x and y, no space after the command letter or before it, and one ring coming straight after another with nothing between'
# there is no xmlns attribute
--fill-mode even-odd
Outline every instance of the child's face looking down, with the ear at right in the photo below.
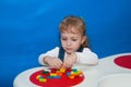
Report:
<svg viewBox="0 0 131 87"><path fill-rule="evenodd" d="M85 41L85 38L86 37L82 36L80 33L61 33L61 45L67 53L73 53Z"/></svg>

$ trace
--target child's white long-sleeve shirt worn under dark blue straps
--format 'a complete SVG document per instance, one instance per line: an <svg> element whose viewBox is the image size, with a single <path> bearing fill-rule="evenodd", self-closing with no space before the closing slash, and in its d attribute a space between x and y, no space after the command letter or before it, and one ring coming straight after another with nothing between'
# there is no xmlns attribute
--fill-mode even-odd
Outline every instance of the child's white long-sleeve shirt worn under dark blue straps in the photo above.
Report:
<svg viewBox="0 0 131 87"><path fill-rule="evenodd" d="M41 53L38 57L39 64L46 65L43 60L47 55L52 57L55 59L58 58L59 50L60 50L60 47L56 47L55 49L49 50L46 53ZM97 54L92 52L88 48L84 48L82 52L75 52L75 54L76 54L76 58L78 58L76 63L80 63L80 64L94 64L94 65L98 63ZM64 53L64 58L66 57L67 57L67 53Z"/></svg>

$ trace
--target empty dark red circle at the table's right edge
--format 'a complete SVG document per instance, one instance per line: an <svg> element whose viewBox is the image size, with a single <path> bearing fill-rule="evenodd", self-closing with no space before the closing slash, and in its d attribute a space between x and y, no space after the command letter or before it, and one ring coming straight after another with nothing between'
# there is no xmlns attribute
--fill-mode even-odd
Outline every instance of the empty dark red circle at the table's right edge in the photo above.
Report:
<svg viewBox="0 0 131 87"><path fill-rule="evenodd" d="M115 59L115 63L121 67L131 70L131 55L122 55Z"/></svg>

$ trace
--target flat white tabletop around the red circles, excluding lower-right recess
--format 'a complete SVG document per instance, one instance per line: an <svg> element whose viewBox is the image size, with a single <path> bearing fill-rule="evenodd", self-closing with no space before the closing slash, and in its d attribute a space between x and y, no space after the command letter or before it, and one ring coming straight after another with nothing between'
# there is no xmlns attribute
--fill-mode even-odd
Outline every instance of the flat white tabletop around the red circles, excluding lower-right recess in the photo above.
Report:
<svg viewBox="0 0 131 87"><path fill-rule="evenodd" d="M75 65L74 69L79 69L83 72L85 78L75 87L106 87L106 86L98 86L99 83L107 76L112 75L124 75L128 74L131 76L131 69L122 67L115 63L115 60L122 55L131 55L131 53L120 53L110 57L106 57L99 59L99 63L95 66L88 65ZM131 62L131 61L130 61ZM33 84L29 80L29 76L39 70L47 69L46 66L38 66L26 70L20 73L13 82L13 87L38 87L37 85ZM118 80L119 82L119 80ZM131 87L131 84L130 84Z"/></svg>

